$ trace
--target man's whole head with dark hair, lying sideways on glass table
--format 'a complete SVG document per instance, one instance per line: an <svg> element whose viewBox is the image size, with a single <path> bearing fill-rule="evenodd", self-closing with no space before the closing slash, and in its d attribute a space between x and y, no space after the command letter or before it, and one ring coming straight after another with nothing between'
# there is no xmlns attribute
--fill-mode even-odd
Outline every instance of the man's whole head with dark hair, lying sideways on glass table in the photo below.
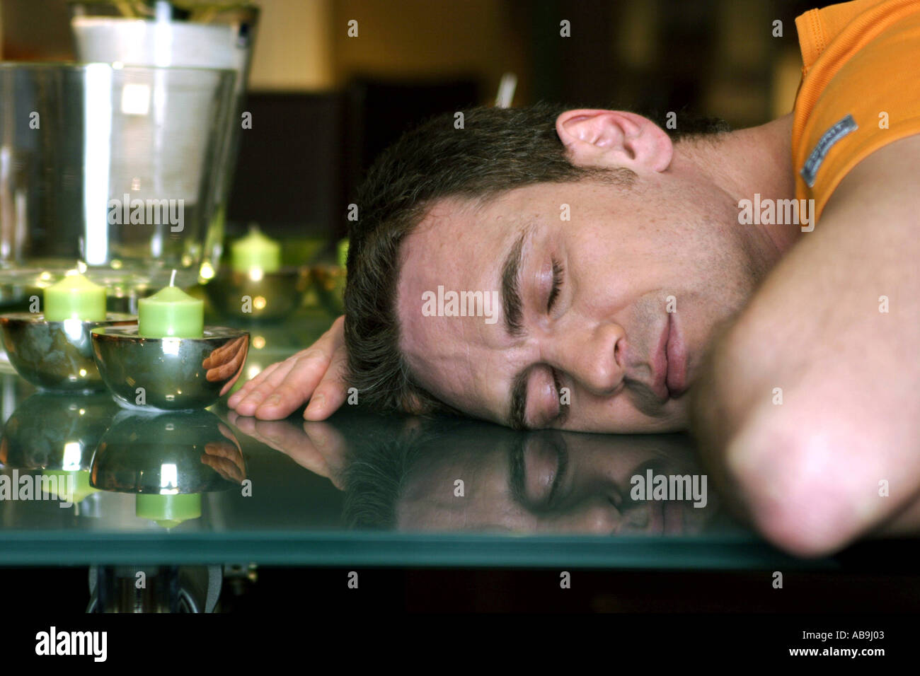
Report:
<svg viewBox="0 0 920 676"><path fill-rule="evenodd" d="M611 110L454 120L409 132L362 186L345 294L362 400L514 427L683 428L713 327L776 253L694 160L707 142Z"/></svg>

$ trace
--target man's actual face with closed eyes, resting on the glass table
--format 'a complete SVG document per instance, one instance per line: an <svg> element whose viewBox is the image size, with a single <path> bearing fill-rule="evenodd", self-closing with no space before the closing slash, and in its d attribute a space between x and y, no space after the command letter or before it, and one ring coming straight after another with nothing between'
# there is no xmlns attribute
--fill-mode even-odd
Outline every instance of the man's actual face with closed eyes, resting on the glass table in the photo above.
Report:
<svg viewBox="0 0 920 676"><path fill-rule="evenodd" d="M760 264L718 189L680 167L637 173L631 187L538 184L435 204L403 244L397 289L419 384L506 425L684 429L711 331ZM439 286L500 304L492 318L423 313Z"/></svg>

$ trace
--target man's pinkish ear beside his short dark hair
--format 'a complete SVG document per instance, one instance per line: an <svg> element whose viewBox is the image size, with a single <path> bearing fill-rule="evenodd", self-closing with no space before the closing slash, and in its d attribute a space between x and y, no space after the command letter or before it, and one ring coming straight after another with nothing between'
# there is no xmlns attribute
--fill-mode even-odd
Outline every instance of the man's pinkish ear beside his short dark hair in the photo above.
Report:
<svg viewBox="0 0 920 676"><path fill-rule="evenodd" d="M578 166L626 167L664 171L671 165L673 144L648 118L624 110L567 110L556 132Z"/></svg>

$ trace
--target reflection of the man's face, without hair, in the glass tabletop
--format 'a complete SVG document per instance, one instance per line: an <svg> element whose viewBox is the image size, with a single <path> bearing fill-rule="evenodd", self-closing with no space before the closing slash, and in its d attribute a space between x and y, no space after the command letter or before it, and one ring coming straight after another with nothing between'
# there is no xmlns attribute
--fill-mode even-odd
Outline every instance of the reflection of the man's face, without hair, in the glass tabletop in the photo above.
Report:
<svg viewBox="0 0 920 676"><path fill-rule="evenodd" d="M699 478L690 442L681 435L489 430L450 446L423 454L408 472L397 498L398 530L698 533L719 510L713 495L701 507L692 498L634 498L633 477L644 483L649 470Z"/></svg>

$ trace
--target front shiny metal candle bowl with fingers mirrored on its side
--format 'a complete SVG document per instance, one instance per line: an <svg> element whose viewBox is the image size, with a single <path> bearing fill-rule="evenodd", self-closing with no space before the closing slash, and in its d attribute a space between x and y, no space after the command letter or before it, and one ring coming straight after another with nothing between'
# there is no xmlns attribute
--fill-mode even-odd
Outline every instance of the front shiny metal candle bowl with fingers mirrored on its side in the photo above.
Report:
<svg viewBox="0 0 920 676"><path fill-rule="evenodd" d="M102 380L122 406L181 410L211 406L243 371L249 334L204 327L203 338L143 338L137 327L92 333Z"/></svg>

